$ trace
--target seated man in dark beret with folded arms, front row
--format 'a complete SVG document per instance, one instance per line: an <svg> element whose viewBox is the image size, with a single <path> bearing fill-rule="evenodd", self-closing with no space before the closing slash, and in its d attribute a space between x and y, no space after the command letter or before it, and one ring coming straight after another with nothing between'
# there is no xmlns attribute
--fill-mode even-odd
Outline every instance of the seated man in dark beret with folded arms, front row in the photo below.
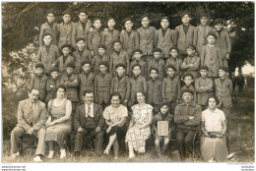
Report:
<svg viewBox="0 0 256 171"><path fill-rule="evenodd" d="M191 89L182 90L183 102L175 108L174 122L177 124L176 147L181 158L188 158L193 151L194 136L201 122L201 106L194 103Z"/></svg>

